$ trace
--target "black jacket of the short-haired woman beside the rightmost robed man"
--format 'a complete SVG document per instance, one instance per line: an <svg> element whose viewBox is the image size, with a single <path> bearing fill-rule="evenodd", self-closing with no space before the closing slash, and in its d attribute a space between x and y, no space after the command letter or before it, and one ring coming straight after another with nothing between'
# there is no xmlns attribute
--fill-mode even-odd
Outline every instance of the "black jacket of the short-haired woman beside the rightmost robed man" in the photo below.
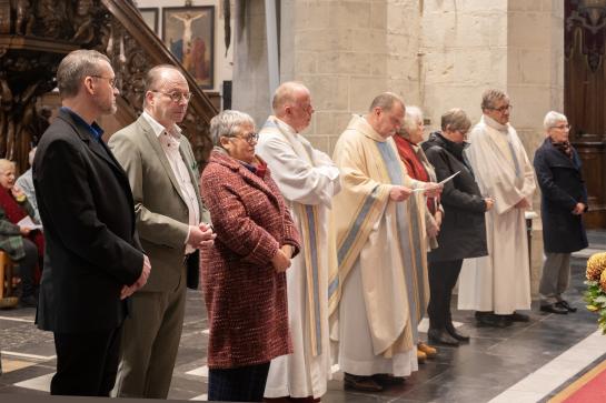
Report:
<svg viewBox="0 0 606 403"><path fill-rule="evenodd" d="M444 219L438 234L439 248L427 255L430 262L488 254L484 218L486 203L471 168L463 159L464 145L445 139L439 132L431 133L429 140L421 145L436 169L438 181L460 171L446 182L441 192Z"/></svg>

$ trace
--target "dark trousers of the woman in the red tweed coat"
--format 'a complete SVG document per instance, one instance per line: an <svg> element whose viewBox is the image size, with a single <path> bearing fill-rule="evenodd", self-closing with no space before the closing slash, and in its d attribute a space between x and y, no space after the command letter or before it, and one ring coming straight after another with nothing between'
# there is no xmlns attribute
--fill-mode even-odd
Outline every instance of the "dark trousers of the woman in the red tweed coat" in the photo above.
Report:
<svg viewBox="0 0 606 403"><path fill-rule="evenodd" d="M208 371L208 400L262 402L269 363Z"/></svg>

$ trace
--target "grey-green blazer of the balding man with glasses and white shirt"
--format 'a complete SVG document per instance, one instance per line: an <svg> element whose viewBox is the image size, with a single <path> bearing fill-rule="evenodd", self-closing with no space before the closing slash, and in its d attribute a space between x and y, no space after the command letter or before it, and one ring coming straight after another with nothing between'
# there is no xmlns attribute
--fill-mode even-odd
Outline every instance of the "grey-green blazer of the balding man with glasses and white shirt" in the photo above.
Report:
<svg viewBox="0 0 606 403"><path fill-rule="evenodd" d="M179 151L188 167L200 206L200 218L210 222L200 199L199 172L191 144L181 135ZM175 290L186 279L185 241L189 212L181 189L158 137L145 118L139 117L109 139L109 147L127 172L137 215L137 230L151 273L141 291Z"/></svg>

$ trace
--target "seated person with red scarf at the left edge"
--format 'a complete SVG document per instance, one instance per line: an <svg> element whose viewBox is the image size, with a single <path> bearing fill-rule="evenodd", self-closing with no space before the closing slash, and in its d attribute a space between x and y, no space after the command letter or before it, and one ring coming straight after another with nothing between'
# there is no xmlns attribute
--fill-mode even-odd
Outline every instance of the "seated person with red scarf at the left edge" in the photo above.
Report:
<svg viewBox="0 0 606 403"><path fill-rule="evenodd" d="M0 250L19 265L21 304L36 306L38 293L33 281L36 265L42 262L44 238L39 230L18 224L28 215L38 223L28 198L14 185L14 162L0 159Z"/></svg>

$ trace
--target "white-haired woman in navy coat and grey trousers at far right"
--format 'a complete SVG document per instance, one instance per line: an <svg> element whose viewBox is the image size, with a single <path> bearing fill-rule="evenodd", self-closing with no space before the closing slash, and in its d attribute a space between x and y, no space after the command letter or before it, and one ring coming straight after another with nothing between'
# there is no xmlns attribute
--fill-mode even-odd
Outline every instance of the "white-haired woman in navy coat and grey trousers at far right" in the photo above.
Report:
<svg viewBox="0 0 606 403"><path fill-rule="evenodd" d="M568 141L566 117L548 112L544 121L546 139L535 153L535 171L540 187L545 262L540 279L540 310L565 314L575 312L562 294L570 280L570 253L587 248L582 215L587 211L587 189L580 159Z"/></svg>

